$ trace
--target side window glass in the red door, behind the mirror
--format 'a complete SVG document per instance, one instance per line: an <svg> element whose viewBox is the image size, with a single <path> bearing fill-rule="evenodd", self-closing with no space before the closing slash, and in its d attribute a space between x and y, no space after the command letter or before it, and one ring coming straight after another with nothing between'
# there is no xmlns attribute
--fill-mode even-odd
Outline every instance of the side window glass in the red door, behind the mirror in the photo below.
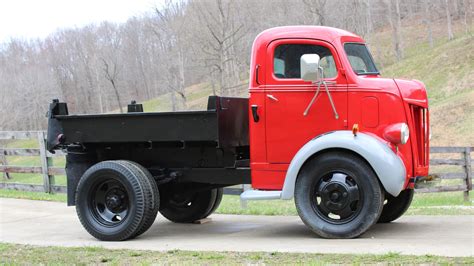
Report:
<svg viewBox="0 0 474 266"><path fill-rule="evenodd" d="M319 45L282 44L275 48L273 57L273 74L280 79L301 78L300 58L304 54L318 54L320 66L324 69L325 78L337 76L336 64L331 51Z"/></svg>

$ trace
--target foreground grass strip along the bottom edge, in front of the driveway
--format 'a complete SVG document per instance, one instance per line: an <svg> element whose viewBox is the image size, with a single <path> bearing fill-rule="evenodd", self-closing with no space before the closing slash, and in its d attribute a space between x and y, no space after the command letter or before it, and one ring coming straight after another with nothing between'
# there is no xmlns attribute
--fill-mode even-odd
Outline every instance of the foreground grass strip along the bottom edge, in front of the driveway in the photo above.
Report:
<svg viewBox="0 0 474 266"><path fill-rule="evenodd" d="M37 247L0 243L0 264L110 264L110 265L325 265L325 264L466 264L473 257L408 256L390 252L382 255L308 254L280 252L167 252L114 249L102 247Z"/></svg>

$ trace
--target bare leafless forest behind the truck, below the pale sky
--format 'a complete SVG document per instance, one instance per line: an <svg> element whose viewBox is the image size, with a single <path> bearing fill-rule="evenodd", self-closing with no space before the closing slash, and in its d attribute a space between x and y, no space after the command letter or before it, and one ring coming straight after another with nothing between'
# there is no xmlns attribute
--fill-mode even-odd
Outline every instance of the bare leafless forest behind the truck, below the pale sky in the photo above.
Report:
<svg viewBox="0 0 474 266"><path fill-rule="evenodd" d="M469 30L473 5L472 0L174 0L124 24L13 39L0 44L0 130L44 128L53 98L67 101L74 113L97 113L165 93L174 110L184 109L184 88L201 82L211 84L215 94L231 95L246 86L253 39L275 26L333 26L371 45L377 42L371 34L389 27L388 52L401 60L409 45L403 42L403 21L423 24L424 38L433 45L432 22L443 21L452 39L453 21Z"/></svg>

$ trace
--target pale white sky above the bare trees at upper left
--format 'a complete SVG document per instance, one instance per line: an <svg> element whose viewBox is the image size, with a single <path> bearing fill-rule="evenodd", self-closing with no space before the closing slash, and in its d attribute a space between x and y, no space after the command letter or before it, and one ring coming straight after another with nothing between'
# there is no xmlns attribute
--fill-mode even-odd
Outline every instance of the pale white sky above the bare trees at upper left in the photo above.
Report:
<svg viewBox="0 0 474 266"><path fill-rule="evenodd" d="M45 38L58 29L125 22L164 0L0 0L0 43Z"/></svg>

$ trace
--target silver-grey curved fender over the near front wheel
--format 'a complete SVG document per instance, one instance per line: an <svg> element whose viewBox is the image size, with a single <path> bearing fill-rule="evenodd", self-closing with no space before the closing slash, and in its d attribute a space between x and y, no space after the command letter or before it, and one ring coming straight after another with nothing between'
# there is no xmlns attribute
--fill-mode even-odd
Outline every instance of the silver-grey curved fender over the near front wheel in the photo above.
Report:
<svg viewBox="0 0 474 266"><path fill-rule="evenodd" d="M332 148L351 150L367 160L389 194L396 197L402 191L406 177L402 160L380 140L364 133L354 136L352 131L344 130L316 137L296 153L286 172L281 199L293 198L296 178L306 160L317 152Z"/></svg>

